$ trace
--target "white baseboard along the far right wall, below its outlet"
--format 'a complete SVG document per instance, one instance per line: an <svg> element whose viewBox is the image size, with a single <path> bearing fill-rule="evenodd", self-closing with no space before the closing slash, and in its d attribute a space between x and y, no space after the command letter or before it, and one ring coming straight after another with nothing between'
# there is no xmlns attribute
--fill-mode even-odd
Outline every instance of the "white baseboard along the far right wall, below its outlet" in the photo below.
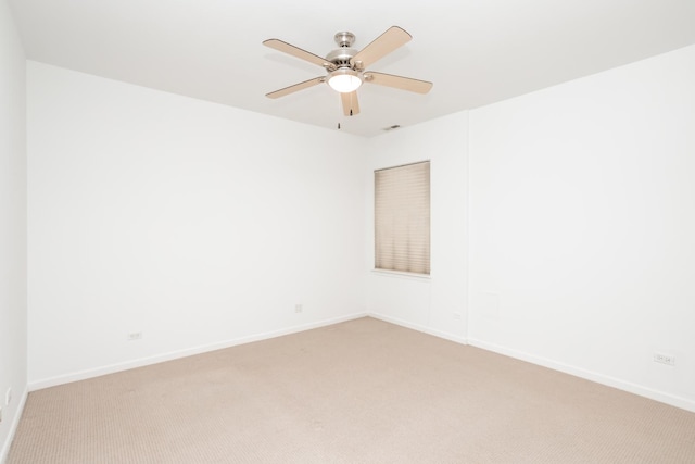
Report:
<svg viewBox="0 0 695 464"><path fill-rule="evenodd" d="M513 350L507 347L502 347L494 343L488 343L485 341L468 339L468 343L471 347L481 348L483 350L493 351L505 356L514 358L517 360L526 361L532 364L536 364L543 367L548 367L554 371L559 371L565 374L570 374L576 377L581 377L586 380L595 381L597 384L606 385L608 387L617 388L619 390L628 391L630 393L639 394L650 400L659 401L661 403L669 404L671 406L680 407L682 410L695 412L695 401L686 398L677 397L674 394L666 393L650 388L643 387L637 384L621 380L619 378L610 377L607 375L598 374L593 371L574 367L569 364L558 363L545 358L539 358L529 353L525 353L518 350Z"/></svg>

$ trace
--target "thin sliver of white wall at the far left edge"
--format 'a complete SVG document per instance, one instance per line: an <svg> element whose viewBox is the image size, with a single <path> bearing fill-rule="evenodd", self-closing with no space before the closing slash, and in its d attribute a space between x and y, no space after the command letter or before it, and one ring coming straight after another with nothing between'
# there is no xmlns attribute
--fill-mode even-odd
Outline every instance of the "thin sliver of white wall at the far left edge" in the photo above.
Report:
<svg viewBox="0 0 695 464"><path fill-rule="evenodd" d="M27 390L25 59L8 2L0 1L0 462ZM8 389L12 400L5 404Z"/></svg>

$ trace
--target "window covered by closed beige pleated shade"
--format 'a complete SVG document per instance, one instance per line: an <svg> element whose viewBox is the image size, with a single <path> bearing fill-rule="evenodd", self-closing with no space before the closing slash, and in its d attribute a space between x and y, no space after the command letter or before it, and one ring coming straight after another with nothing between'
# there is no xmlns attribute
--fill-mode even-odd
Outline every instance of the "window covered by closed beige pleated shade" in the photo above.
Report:
<svg viewBox="0 0 695 464"><path fill-rule="evenodd" d="M430 274L430 162L374 172L375 267Z"/></svg>

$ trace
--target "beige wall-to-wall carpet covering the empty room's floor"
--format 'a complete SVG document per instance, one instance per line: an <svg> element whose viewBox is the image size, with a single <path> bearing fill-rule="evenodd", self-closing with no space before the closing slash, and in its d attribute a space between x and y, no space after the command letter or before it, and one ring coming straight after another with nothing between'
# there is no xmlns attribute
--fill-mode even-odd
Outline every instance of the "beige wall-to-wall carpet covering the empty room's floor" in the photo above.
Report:
<svg viewBox="0 0 695 464"><path fill-rule="evenodd" d="M695 414L366 317L31 392L17 463L695 463Z"/></svg>

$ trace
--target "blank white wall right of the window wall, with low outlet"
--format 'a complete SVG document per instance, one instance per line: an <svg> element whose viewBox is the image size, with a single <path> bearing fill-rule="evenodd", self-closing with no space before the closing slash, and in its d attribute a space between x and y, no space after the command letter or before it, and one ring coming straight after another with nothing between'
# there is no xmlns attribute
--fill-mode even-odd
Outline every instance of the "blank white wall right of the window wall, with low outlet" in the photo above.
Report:
<svg viewBox="0 0 695 464"><path fill-rule="evenodd" d="M471 343L695 410L693 83L688 47L471 111Z"/></svg>

